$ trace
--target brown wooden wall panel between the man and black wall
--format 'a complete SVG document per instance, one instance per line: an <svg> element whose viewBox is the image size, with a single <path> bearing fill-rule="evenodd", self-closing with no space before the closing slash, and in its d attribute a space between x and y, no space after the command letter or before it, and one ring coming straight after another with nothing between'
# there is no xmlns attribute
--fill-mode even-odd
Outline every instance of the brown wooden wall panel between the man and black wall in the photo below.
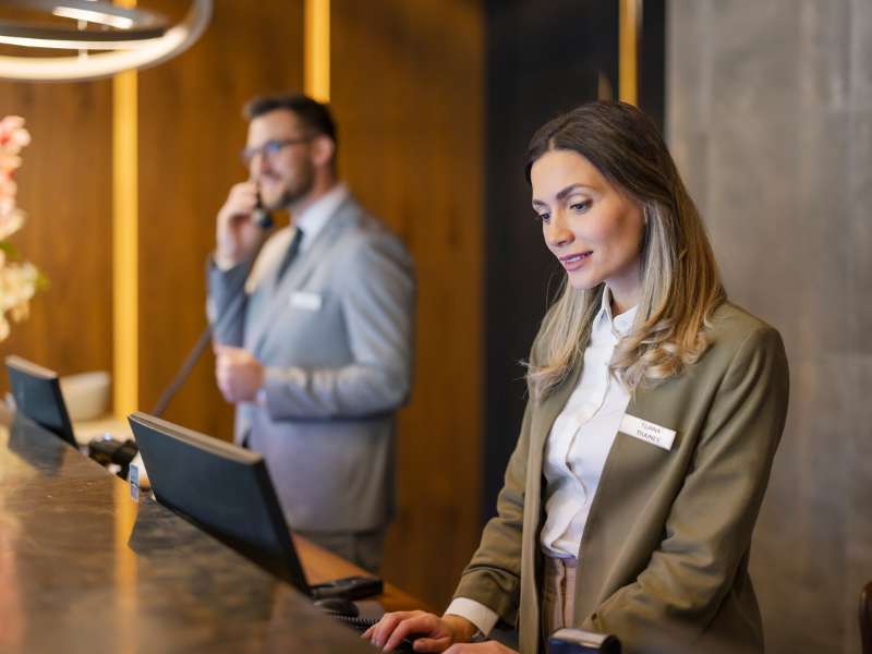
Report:
<svg viewBox="0 0 872 654"><path fill-rule="evenodd" d="M332 0L340 173L409 245L417 366L384 573L441 607L480 534L483 10Z"/></svg>

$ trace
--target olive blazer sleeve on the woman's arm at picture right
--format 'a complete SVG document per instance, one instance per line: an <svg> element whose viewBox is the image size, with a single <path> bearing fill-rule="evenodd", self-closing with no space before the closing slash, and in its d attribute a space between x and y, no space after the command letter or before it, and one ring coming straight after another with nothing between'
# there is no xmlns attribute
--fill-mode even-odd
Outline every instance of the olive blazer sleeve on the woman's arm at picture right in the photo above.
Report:
<svg viewBox="0 0 872 654"><path fill-rule="evenodd" d="M751 546L751 532L784 429L788 370L778 332L759 327L729 364L664 537L633 583L603 602L582 629L700 635Z"/></svg>

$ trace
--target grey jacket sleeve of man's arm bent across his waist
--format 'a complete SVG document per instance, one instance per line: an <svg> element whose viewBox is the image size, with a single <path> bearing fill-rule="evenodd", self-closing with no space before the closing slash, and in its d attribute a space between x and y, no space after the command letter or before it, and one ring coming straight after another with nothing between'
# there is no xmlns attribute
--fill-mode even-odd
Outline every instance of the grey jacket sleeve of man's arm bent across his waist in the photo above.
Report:
<svg viewBox="0 0 872 654"><path fill-rule="evenodd" d="M356 417L390 412L412 385L415 282L412 262L387 232L350 255L341 287L353 361L339 367L267 367L266 409L274 420Z"/></svg>

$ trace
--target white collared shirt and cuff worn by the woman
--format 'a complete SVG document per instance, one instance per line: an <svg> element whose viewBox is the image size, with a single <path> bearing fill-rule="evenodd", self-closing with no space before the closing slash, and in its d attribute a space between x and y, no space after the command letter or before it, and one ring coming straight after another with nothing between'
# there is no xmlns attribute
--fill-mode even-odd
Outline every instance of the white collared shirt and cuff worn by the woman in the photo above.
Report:
<svg viewBox="0 0 872 654"><path fill-rule="evenodd" d="M630 401L630 393L608 365L635 314L634 306L613 318L611 293L606 287L584 350L581 377L548 434L543 462L545 526L540 544L549 556L583 556L581 537L591 502ZM498 619L488 607L468 597L453 600L445 613L467 618L484 634Z"/></svg>

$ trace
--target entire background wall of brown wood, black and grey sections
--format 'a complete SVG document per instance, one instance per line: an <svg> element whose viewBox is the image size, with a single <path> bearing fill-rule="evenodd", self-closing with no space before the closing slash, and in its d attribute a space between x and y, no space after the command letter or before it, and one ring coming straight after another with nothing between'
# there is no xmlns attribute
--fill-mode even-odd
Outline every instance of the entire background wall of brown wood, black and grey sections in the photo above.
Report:
<svg viewBox="0 0 872 654"><path fill-rule="evenodd" d="M138 73L138 404L204 326L215 213L245 171L242 104L301 88L304 0L217 0L205 36ZM523 149L547 118L617 97L615 0L332 0L340 172L412 251L417 368L400 416L400 512L384 574L448 598L501 483L518 360L554 268ZM149 0L171 16L186 3ZM872 579L872 7L867 0L644 0L638 102L664 122L728 290L776 325L792 399L752 567L772 652L856 652ZM27 119L15 235L51 280L0 354L112 370L112 81L0 83ZM552 283L552 289L554 288ZM228 438L206 354L169 420ZM5 378L0 379L0 389Z"/></svg>

